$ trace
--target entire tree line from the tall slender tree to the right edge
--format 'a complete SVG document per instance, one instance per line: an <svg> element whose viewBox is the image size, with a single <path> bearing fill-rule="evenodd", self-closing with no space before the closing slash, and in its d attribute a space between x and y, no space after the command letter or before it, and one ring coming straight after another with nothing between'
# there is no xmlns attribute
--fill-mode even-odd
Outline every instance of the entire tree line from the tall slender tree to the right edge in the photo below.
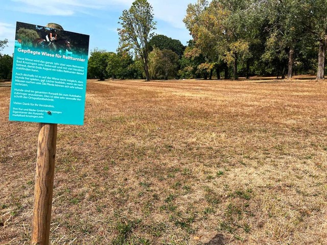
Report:
<svg viewBox="0 0 327 245"><path fill-rule="evenodd" d="M316 74L317 79L324 78L326 0L198 0L188 5L183 21L192 36L187 46L154 35L151 5L146 0L133 2L120 17L117 55L129 54L139 70L125 72L127 77L115 71L111 77L236 80Z"/></svg>

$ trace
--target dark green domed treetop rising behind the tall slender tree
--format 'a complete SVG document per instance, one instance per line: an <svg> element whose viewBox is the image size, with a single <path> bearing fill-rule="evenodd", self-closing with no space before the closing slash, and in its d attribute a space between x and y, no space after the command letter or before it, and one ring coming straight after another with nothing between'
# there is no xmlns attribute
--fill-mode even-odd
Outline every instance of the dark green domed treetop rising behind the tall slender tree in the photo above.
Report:
<svg viewBox="0 0 327 245"><path fill-rule="evenodd" d="M155 35L149 41L150 50L152 51L154 47L159 48L159 50L171 50L175 52L178 57L182 57L185 46L177 39L172 39L165 35Z"/></svg>

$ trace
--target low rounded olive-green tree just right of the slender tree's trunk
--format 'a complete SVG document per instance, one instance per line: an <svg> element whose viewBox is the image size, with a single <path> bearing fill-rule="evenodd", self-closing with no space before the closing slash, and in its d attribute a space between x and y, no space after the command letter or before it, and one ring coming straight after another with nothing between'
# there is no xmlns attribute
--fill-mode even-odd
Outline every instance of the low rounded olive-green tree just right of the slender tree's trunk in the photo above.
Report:
<svg viewBox="0 0 327 245"><path fill-rule="evenodd" d="M178 55L171 50L154 48L149 54L150 76L155 79L174 78L177 76Z"/></svg>

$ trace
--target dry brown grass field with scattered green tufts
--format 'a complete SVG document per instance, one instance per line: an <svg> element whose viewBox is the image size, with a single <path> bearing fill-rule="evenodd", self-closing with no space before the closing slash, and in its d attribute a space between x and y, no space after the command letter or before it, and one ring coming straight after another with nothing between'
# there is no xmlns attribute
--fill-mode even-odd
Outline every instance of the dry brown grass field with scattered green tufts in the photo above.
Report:
<svg viewBox="0 0 327 245"><path fill-rule="evenodd" d="M327 244L327 83L88 81L52 244ZM30 244L38 126L0 84L0 244Z"/></svg>

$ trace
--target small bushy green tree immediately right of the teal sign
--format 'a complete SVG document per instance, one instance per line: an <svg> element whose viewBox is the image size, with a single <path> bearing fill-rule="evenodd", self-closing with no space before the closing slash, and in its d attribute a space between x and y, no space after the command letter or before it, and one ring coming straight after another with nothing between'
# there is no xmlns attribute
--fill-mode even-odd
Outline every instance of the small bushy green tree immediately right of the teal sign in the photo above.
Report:
<svg viewBox="0 0 327 245"><path fill-rule="evenodd" d="M88 78L97 78L100 81L104 81L109 77L107 65L110 54L112 54L112 52L98 50L97 48L91 51L87 66Z"/></svg>

